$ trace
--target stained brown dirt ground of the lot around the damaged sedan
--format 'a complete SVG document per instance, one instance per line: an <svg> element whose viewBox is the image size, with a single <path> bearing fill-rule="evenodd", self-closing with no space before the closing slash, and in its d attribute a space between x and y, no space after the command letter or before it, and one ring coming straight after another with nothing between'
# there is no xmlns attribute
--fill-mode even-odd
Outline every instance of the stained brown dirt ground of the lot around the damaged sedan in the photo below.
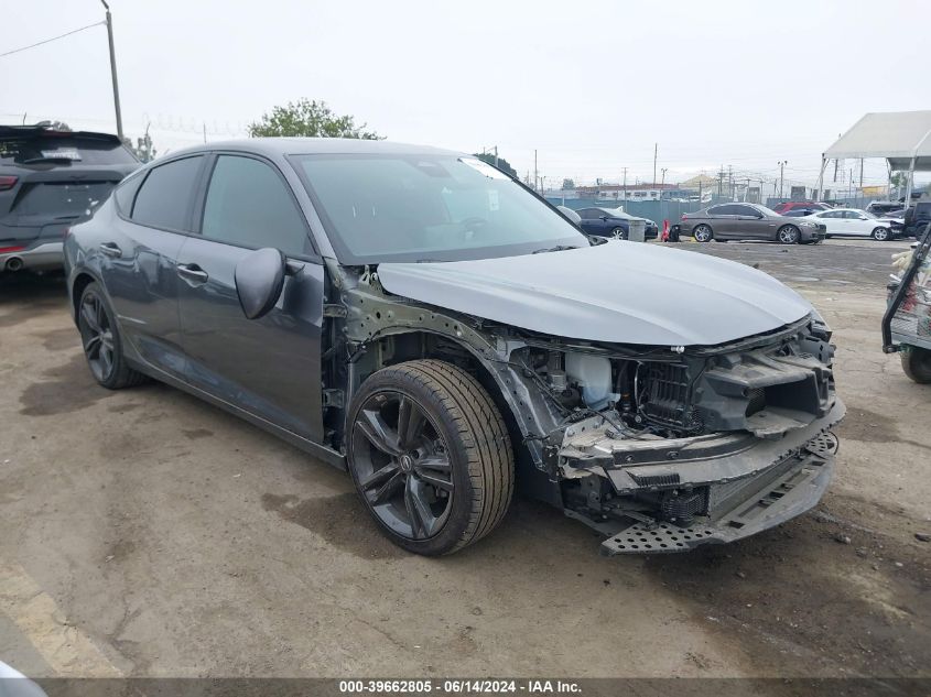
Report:
<svg viewBox="0 0 931 697"><path fill-rule="evenodd" d="M463 553L407 555L347 476L164 385L97 388L62 279L0 279L0 658L33 676L931 676L931 386L879 339L906 244L681 247L814 303L848 415L815 511L651 557L600 557L521 500Z"/></svg>

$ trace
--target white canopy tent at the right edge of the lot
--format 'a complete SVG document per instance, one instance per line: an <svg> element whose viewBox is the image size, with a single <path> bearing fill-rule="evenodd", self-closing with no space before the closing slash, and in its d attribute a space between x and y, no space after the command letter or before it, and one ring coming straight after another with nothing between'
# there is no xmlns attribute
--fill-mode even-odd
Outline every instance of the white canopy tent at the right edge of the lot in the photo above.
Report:
<svg viewBox="0 0 931 697"><path fill-rule="evenodd" d="M818 198L830 160L883 157L889 171L908 172L906 202L911 200L916 172L931 172L931 110L867 113L821 156Z"/></svg>

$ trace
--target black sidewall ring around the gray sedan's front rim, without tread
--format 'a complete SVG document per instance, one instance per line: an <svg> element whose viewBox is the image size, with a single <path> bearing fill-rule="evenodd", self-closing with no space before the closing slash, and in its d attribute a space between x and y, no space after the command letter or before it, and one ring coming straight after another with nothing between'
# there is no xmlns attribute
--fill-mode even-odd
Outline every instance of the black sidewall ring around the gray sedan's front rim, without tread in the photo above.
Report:
<svg viewBox="0 0 931 697"><path fill-rule="evenodd" d="M396 392L416 402L446 444L446 455L453 468L453 508L440 532L427 540L411 540L392 530L372 510L366 499L365 492L359 486L359 478L354 466L355 434L353 428L362 405L369 397L379 392ZM468 525L472 514L472 501L476 492L468 472L467 446L459 437L459 432L452 420L452 415L447 410L443 409L439 397L429 390L423 389L423 385L420 383L410 380L407 374L393 371L391 368L385 368L369 377L353 397L353 403L347 414L346 435L346 467L353 478L353 483L361 504L381 532L398 546L425 556L441 555L454 548Z"/></svg>

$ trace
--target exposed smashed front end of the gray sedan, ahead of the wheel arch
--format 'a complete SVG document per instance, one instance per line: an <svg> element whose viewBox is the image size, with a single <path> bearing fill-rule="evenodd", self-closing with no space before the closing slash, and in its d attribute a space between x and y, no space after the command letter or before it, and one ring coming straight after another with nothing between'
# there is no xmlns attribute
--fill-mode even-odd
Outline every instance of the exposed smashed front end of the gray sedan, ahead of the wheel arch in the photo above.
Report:
<svg viewBox="0 0 931 697"><path fill-rule="evenodd" d="M629 554L732 542L809 510L844 415L829 341L805 318L714 348L574 348L562 367L529 349L518 360L571 410L541 442L566 514Z"/></svg>

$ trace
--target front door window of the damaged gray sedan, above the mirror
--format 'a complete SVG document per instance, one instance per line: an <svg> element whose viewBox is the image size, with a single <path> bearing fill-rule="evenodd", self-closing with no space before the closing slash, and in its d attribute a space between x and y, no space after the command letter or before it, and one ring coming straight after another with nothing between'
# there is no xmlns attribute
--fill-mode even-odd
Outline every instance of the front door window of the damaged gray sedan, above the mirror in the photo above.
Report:
<svg viewBox="0 0 931 697"><path fill-rule="evenodd" d="M201 233L239 247L273 247L291 257L311 251L304 216L288 184L252 157L217 157Z"/></svg>

